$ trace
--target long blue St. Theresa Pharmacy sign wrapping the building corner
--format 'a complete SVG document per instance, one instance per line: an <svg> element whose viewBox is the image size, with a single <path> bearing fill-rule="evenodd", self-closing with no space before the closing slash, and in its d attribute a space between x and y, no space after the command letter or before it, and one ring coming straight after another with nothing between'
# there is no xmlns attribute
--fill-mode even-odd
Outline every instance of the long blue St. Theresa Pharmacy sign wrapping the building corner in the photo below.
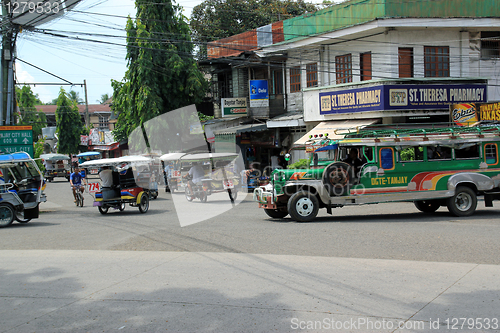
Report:
<svg viewBox="0 0 500 333"><path fill-rule="evenodd" d="M484 103L484 84L402 84L319 93L320 114L449 108L450 104Z"/></svg>

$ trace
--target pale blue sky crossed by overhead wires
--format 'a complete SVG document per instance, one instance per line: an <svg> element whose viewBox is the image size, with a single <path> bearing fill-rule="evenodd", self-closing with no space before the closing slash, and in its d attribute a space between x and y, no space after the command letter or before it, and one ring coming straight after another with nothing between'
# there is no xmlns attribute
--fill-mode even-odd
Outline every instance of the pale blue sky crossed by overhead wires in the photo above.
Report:
<svg viewBox="0 0 500 333"><path fill-rule="evenodd" d="M192 9L202 0L180 0L176 3L184 9L186 17L191 16ZM66 83L76 85L36 85L31 86L35 94L44 103L57 98L63 87L67 92L74 90L85 100L87 84L89 104L100 103L103 94L112 95L111 79L121 81L126 71L125 60L125 24L126 17L135 17L133 0L83 0L75 11L64 17L46 23L37 28L46 32L61 33L78 32L74 36L80 40L68 40L64 37L53 37L46 34L23 31L17 39L16 78L18 83ZM96 15L95 13L113 15ZM122 16L122 17L119 17ZM86 35L93 34L93 36ZM95 36L95 34L101 34ZM104 36L106 35L106 36ZM109 37L114 36L114 37ZM109 45L88 42L81 39L111 42ZM43 69L57 77L49 75L25 62Z"/></svg>

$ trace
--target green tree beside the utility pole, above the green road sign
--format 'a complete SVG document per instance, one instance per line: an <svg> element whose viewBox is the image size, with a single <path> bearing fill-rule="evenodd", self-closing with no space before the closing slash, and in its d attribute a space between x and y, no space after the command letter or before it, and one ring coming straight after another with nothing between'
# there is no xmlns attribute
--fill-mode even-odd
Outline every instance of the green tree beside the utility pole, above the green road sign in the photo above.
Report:
<svg viewBox="0 0 500 333"><path fill-rule="evenodd" d="M19 125L30 125L33 128L33 137L38 138L42 135L42 128L47 126L47 117L43 112L37 112L35 105L42 102L38 95L33 94L30 86L16 87L17 104L19 113L17 114L17 123Z"/></svg>

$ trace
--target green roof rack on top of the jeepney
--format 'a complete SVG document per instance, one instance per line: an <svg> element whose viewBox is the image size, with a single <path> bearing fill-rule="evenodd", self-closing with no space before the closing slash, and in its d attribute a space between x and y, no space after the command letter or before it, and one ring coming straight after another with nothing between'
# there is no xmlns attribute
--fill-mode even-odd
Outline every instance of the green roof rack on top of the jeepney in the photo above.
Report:
<svg viewBox="0 0 500 333"><path fill-rule="evenodd" d="M484 134L500 135L500 124L475 123L473 126L457 126L453 123L421 124L383 124L371 125L356 133L346 134L345 138L411 138L428 136L448 136L453 139L458 135L471 134L482 137Z"/></svg>

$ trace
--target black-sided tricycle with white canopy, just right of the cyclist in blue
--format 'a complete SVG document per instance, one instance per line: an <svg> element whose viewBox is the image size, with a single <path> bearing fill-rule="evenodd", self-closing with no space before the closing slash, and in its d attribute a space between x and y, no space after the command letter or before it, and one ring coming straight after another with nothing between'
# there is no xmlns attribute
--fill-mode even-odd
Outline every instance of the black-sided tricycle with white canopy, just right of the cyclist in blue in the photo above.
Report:
<svg viewBox="0 0 500 333"><path fill-rule="evenodd" d="M110 167L113 175L113 185L102 187L100 183L89 183L89 192L94 193L94 206L101 214L106 214L109 208L123 211L125 205L138 207L141 213L149 209L152 160L145 156L122 156L87 161L80 164L81 168ZM102 172L102 171L101 171Z"/></svg>

